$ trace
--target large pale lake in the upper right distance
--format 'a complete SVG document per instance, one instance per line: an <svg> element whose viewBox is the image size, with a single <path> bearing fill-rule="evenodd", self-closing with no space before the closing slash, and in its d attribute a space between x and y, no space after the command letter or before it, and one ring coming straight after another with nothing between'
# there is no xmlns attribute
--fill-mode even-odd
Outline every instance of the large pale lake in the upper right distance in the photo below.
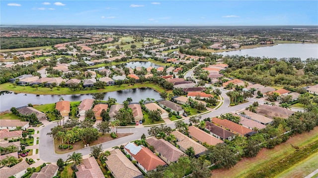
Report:
<svg viewBox="0 0 318 178"><path fill-rule="evenodd" d="M318 44L278 44L267 47L257 47L252 49L241 49L229 52L220 52L223 55L248 55L254 57L276 57L277 59L286 57L318 58Z"/></svg>

